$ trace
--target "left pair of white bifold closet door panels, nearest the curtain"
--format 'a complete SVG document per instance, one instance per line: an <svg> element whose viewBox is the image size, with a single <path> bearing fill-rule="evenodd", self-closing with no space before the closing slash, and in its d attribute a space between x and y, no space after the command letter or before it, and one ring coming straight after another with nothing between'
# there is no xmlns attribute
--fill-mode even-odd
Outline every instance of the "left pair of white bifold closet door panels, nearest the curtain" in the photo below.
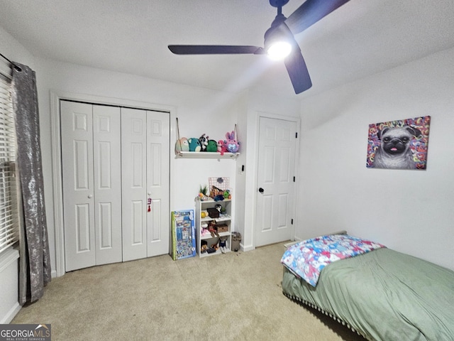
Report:
<svg viewBox="0 0 454 341"><path fill-rule="evenodd" d="M60 102L66 271L122 260L120 108Z"/></svg>

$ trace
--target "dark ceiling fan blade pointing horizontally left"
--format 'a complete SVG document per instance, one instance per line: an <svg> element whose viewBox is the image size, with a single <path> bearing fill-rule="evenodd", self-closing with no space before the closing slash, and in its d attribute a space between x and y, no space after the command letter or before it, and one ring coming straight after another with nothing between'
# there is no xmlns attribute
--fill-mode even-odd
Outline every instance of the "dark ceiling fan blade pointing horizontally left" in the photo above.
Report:
<svg viewBox="0 0 454 341"><path fill-rule="evenodd" d="M263 48L250 45L169 45L176 55L237 55L265 53Z"/></svg>

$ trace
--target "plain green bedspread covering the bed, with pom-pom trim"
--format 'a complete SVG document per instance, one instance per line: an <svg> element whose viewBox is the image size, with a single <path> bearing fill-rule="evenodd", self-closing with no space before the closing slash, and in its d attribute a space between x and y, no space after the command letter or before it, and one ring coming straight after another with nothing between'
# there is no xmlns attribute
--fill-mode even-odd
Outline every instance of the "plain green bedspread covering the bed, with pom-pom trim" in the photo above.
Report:
<svg viewBox="0 0 454 341"><path fill-rule="evenodd" d="M391 249L329 264L315 288L284 267L282 290L370 340L454 340L454 271Z"/></svg>

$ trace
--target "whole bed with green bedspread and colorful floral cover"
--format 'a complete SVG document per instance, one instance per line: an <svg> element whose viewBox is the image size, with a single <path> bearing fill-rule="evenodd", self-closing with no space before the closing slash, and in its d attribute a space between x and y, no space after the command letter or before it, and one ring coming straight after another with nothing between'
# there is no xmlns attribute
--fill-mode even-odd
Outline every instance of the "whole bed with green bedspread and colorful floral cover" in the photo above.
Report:
<svg viewBox="0 0 454 341"><path fill-rule="evenodd" d="M367 340L454 340L454 271L348 234L292 244L281 263L285 296Z"/></svg>

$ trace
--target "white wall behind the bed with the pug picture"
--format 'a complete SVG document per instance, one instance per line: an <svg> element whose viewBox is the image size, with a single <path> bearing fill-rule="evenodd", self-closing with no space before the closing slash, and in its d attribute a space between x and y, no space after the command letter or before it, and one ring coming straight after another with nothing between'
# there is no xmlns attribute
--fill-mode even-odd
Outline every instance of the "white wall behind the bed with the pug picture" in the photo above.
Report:
<svg viewBox="0 0 454 341"><path fill-rule="evenodd" d="M454 49L301 102L297 238L346 229L454 269ZM426 171L366 168L371 123L431 116Z"/></svg>

